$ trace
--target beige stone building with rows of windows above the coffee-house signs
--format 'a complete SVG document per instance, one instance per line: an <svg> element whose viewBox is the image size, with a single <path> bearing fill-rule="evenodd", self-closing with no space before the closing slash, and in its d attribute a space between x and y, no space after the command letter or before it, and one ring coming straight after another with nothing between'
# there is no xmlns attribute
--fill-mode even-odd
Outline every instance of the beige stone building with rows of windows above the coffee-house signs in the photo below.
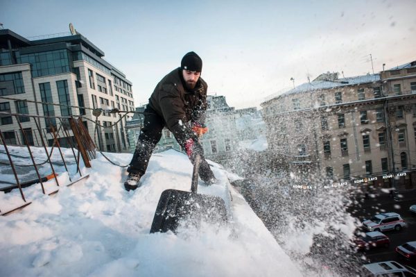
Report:
<svg viewBox="0 0 416 277"><path fill-rule="evenodd" d="M416 62L338 78L322 74L261 104L275 167L338 183L416 185Z"/></svg>

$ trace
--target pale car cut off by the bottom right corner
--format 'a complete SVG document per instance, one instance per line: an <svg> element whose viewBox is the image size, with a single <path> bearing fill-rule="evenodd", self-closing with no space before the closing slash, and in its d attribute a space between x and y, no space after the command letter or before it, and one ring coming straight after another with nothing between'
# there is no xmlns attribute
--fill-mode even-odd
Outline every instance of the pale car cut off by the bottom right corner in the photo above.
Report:
<svg viewBox="0 0 416 277"><path fill-rule="evenodd" d="M363 265L363 274L361 276L413 276L416 277L416 269L401 265L399 262L374 262Z"/></svg>

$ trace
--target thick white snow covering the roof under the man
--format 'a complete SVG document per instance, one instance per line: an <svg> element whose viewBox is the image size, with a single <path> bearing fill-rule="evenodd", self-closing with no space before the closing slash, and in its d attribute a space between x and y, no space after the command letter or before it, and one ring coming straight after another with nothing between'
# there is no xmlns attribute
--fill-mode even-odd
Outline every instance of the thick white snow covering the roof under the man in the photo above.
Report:
<svg viewBox="0 0 416 277"><path fill-rule="evenodd" d="M132 157L108 156L123 165ZM200 183L198 192L222 197L231 223L180 228L177 235L149 234L160 194L190 189L191 163L173 150L153 155L134 192L123 189L125 169L100 154L92 168L82 169L89 178L71 187L62 186L69 176L61 173L58 194L42 194L39 184L26 188L32 204L0 221L0 276L301 276L229 185L228 177L235 176L218 165L212 168L218 183ZM75 169L70 171L76 178ZM45 187L57 188L53 180ZM1 192L0 210L21 202L19 197L18 190Z"/></svg>

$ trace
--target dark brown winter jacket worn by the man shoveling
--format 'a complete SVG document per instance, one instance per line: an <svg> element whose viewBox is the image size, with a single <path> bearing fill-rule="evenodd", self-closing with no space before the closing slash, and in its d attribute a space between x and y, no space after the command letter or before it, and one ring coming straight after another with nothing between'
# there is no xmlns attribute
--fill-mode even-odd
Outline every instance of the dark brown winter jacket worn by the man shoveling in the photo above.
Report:
<svg viewBox="0 0 416 277"><path fill-rule="evenodd" d="M182 69L179 67L164 76L150 96L149 106L164 119L166 127L177 139L186 139L189 135L183 134L182 131L191 132L189 123L205 123L208 86L199 78L193 91L186 90L180 74ZM183 137L184 135L186 137Z"/></svg>

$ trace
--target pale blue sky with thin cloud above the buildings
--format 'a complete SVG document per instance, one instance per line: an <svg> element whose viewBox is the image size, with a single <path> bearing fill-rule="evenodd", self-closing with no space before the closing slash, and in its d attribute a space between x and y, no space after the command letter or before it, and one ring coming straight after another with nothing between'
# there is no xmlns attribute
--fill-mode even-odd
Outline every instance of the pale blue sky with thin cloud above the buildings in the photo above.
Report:
<svg viewBox="0 0 416 277"><path fill-rule="evenodd" d="M0 22L26 38L71 22L132 82L136 106L195 51L208 94L259 108L308 76L372 73L370 54L375 73L416 60L415 10L413 0L2 0Z"/></svg>

